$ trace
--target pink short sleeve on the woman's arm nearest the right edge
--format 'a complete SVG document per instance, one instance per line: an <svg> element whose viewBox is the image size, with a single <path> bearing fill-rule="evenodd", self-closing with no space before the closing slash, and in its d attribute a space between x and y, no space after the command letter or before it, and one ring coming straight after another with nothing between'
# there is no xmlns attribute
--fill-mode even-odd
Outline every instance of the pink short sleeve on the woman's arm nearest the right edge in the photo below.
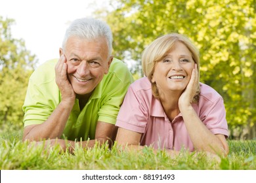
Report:
<svg viewBox="0 0 256 183"><path fill-rule="evenodd" d="M213 134L223 134L228 137L228 124L226 122L226 110L223 98L219 97L214 103L209 104L209 108L202 116L203 124Z"/></svg>

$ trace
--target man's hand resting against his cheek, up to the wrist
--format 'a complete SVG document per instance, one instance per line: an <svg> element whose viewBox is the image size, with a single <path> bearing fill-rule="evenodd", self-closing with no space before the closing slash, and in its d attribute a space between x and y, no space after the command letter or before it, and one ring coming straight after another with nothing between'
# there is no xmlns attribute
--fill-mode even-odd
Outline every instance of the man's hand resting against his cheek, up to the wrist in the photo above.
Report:
<svg viewBox="0 0 256 183"><path fill-rule="evenodd" d="M75 92L70 84L70 81L68 80L67 70L68 65L66 63L66 57L64 54L62 54L55 66L55 80L60 90L62 101L68 101L68 103L70 103L71 101L75 101Z"/></svg>

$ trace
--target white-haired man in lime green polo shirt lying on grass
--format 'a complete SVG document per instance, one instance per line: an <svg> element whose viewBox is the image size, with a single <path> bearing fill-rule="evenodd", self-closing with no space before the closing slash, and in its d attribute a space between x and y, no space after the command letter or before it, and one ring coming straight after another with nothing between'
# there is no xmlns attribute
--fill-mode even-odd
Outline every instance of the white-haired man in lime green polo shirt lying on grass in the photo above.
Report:
<svg viewBox="0 0 256 183"><path fill-rule="evenodd" d="M71 151L78 141L84 148L113 142L131 82L125 63L112 56L110 27L93 18L75 20L66 30L60 59L45 62L30 77L23 140L47 140Z"/></svg>

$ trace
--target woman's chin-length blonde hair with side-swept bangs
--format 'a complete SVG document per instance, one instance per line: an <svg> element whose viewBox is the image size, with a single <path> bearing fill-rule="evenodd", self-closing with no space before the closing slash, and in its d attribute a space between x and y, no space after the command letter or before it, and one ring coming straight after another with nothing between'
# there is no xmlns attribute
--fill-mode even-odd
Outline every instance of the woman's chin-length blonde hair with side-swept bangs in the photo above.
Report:
<svg viewBox="0 0 256 183"><path fill-rule="evenodd" d="M200 84L199 84L199 68L200 68L200 59L199 59L199 51L198 48L184 35L181 35L179 33L171 33L168 35L163 35L153 41L142 53L142 71L145 76L148 77L148 80L150 80L152 84L152 93L154 97L159 99L160 93L158 92L158 88L156 86L156 83L152 82L152 76L154 73L154 69L156 66L156 63L158 61L161 61L173 48L173 45L175 42L182 42L188 50L190 50L192 54L192 59L195 63L197 63L198 66L198 89L196 91L196 94L194 96L193 102L198 101L199 99L199 93L200 93Z"/></svg>

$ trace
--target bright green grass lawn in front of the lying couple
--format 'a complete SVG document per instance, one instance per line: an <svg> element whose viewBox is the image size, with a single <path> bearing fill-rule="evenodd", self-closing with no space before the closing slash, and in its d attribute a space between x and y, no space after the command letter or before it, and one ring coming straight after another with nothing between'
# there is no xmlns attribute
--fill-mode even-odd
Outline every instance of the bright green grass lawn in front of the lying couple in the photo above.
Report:
<svg viewBox="0 0 256 183"><path fill-rule="evenodd" d="M141 153L126 152L116 146L95 146L88 150L75 148L74 154L60 153L58 148L43 150L43 146L28 146L21 141L22 129L0 130L1 170L255 170L256 141L228 141L230 154L219 160L205 153L181 152L176 158L164 151L154 153L145 148Z"/></svg>

